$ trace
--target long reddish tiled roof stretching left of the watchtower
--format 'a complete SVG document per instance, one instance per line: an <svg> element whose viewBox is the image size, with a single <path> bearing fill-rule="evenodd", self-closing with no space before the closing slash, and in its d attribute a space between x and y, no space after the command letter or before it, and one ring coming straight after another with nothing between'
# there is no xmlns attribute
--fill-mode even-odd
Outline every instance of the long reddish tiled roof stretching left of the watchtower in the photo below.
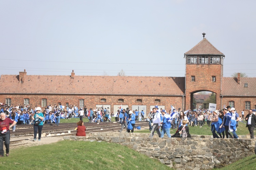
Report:
<svg viewBox="0 0 256 170"><path fill-rule="evenodd" d="M0 94L184 95L184 77L1 75Z"/></svg>

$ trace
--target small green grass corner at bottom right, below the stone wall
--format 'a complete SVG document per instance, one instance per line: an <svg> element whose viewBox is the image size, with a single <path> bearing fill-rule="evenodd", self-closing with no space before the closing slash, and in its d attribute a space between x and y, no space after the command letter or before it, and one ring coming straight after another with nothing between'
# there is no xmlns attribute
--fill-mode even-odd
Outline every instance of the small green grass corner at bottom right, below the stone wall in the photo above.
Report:
<svg viewBox="0 0 256 170"><path fill-rule="evenodd" d="M251 170L256 169L256 155L247 156L243 159L238 160L226 167L220 168L221 170Z"/></svg>

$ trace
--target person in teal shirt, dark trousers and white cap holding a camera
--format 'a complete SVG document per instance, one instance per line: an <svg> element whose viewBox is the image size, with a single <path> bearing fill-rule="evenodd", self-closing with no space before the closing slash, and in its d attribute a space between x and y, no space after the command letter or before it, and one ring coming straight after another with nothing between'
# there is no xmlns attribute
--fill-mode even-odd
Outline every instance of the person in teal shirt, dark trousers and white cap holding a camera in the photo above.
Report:
<svg viewBox="0 0 256 170"><path fill-rule="evenodd" d="M44 115L41 113L41 107L36 108L36 113L32 117L32 120L34 120L34 139L33 139L33 141L37 140L37 131L38 131L38 141L41 141L43 120L44 120Z"/></svg>

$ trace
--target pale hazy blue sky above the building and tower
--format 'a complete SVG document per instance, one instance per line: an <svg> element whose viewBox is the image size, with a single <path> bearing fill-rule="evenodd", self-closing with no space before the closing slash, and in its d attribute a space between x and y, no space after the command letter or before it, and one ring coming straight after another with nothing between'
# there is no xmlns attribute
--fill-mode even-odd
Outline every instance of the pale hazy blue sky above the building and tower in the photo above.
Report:
<svg viewBox="0 0 256 170"><path fill-rule="evenodd" d="M0 75L184 77L202 33L256 77L255 0L0 0Z"/></svg>

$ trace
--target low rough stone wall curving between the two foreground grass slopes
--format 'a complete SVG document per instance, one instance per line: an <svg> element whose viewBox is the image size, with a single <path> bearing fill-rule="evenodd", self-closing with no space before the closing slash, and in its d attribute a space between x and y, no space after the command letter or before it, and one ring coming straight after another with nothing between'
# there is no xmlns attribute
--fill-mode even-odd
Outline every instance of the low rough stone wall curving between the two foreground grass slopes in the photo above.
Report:
<svg viewBox="0 0 256 170"><path fill-rule="evenodd" d="M86 137L65 136L65 140L103 140L125 145L175 169L213 169L254 154L256 139L213 139L148 137L143 133L89 133Z"/></svg>

